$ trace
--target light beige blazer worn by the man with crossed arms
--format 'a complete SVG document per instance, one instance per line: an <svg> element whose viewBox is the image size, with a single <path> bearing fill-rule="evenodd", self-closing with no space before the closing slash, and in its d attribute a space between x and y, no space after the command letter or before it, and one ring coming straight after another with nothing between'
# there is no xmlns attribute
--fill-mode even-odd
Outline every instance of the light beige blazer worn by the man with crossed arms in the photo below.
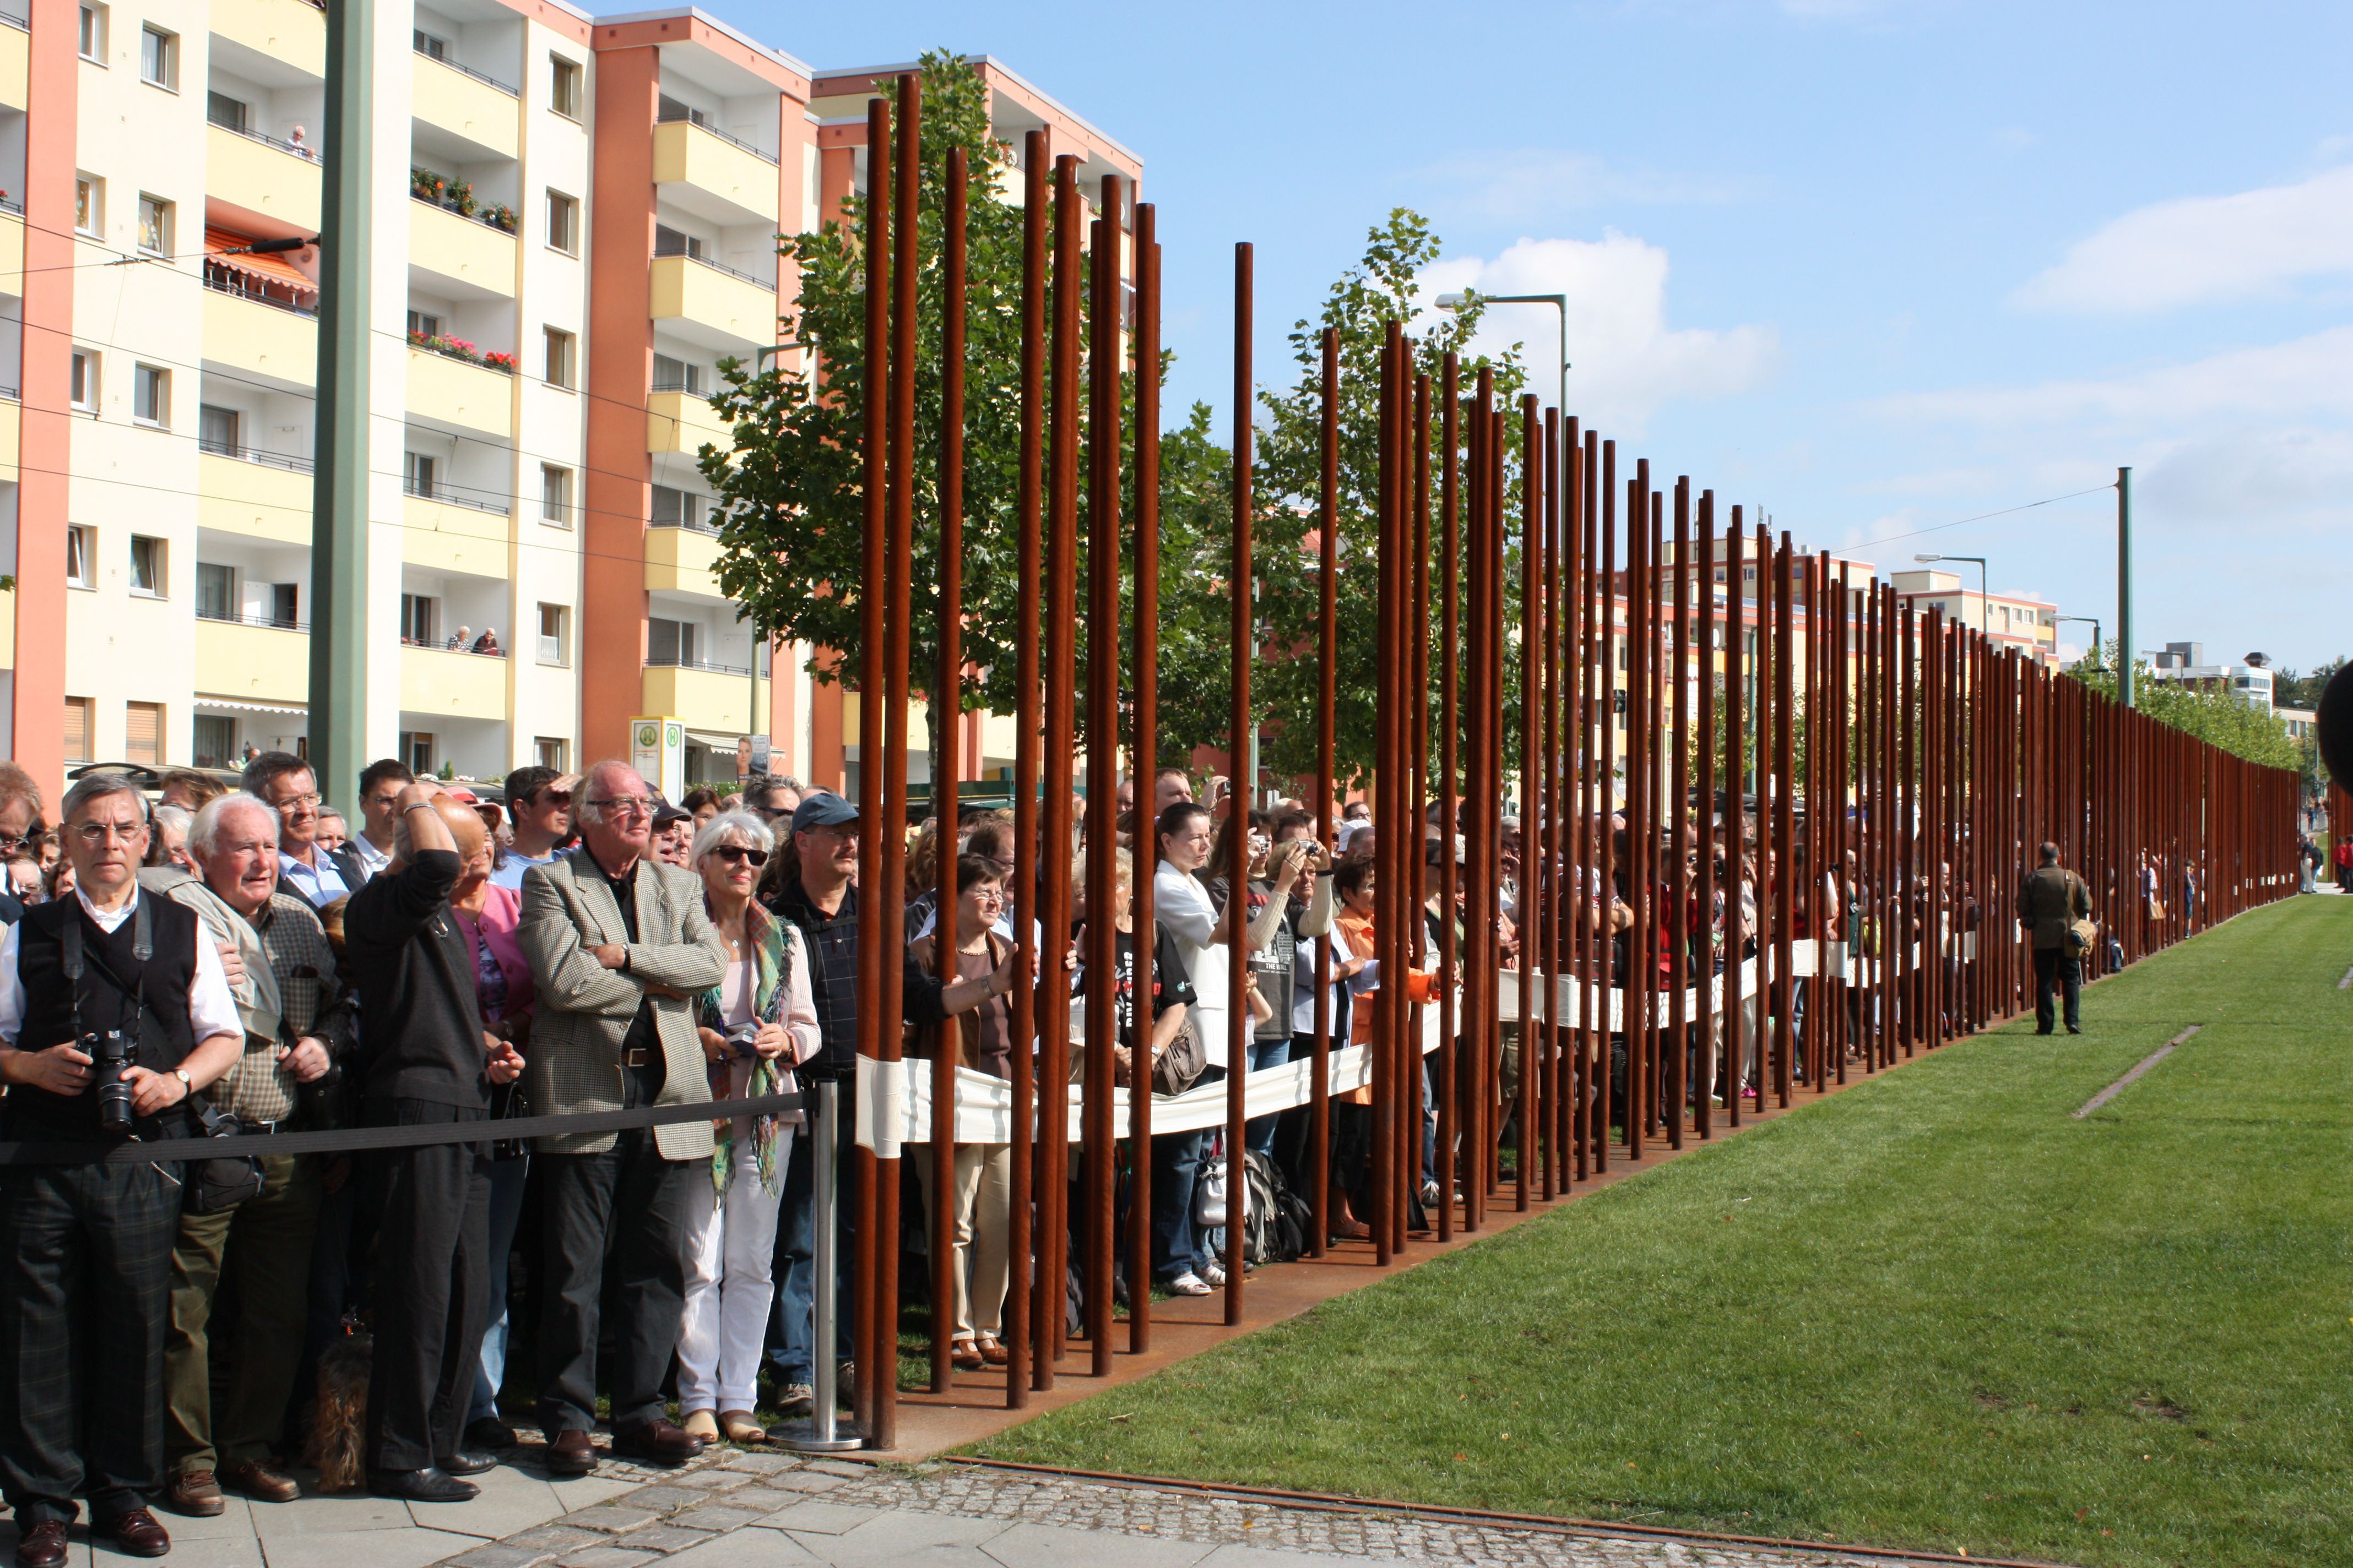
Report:
<svg viewBox="0 0 2353 1568"><path fill-rule="evenodd" d="M621 1039L649 985L678 992L654 997L664 1060L661 1095L654 1103L711 1100L704 1048L694 1037L694 997L727 973L727 945L704 912L701 877L678 865L640 860L638 940L631 943L605 879L593 872L574 877L572 865L567 856L522 875L522 926L515 936L539 985L532 1048L522 1070L532 1112L565 1117L621 1110ZM607 943L628 947L628 969L605 969L588 952ZM602 1154L609 1147L614 1133L539 1140L541 1154ZM664 1159L708 1159L711 1124L696 1119L656 1126L654 1147Z"/></svg>

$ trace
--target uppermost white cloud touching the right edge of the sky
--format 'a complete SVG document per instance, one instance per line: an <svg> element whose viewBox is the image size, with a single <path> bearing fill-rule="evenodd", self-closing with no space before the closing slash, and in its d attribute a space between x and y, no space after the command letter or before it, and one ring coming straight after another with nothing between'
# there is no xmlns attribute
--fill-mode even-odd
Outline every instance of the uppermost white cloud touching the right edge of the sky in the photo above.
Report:
<svg viewBox="0 0 2353 1568"><path fill-rule="evenodd" d="M2280 296L2353 273L2353 165L2294 186L2193 195L2127 212L2031 277L2012 303L2125 315Z"/></svg>

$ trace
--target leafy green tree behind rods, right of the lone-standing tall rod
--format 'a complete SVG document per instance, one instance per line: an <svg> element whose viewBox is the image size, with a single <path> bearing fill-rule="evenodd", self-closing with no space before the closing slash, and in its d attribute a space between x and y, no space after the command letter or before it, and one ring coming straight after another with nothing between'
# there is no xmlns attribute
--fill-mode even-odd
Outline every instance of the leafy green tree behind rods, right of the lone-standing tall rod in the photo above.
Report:
<svg viewBox="0 0 2353 1568"><path fill-rule="evenodd" d="M1315 710L1320 705L1318 628L1322 597L1318 588L1320 557L1313 541L1322 494L1322 329L1339 329L1339 712L1332 717L1334 757L1341 783L1372 771L1377 750L1377 632L1379 632L1379 440L1381 440L1381 350L1388 322L1417 322L1421 273L1438 261L1440 240L1428 219L1405 207L1374 223L1365 235L1365 256L1332 284L1322 313L1313 322L1292 324L1292 353L1299 378L1287 390L1259 393L1266 418L1259 428L1257 498L1252 522L1254 567L1259 578L1261 661L1252 677L1268 741L1261 762L1275 773L1315 773ZM1445 353L1459 350L1461 381L1473 386L1482 364L1494 367L1497 407L1511 407L1525 383L1518 346L1501 360L1468 355L1468 343L1482 306L1466 306L1438 320L1414 343L1414 367L1433 381L1431 421L1438 423L1438 371ZM1468 423L1468 421L1466 421ZM1518 411L1506 421L1511 451L1518 454ZM1438 484L1442 440L1431 433L1431 538L1440 531ZM1508 463L1518 494L1518 461ZM1518 503L1506 501L1508 543L1506 571L1518 564ZM1435 597L1440 576L1431 571L1431 625L1417 644L1421 658L1438 658L1440 614ZM1506 618L1515 618L1518 592L1506 590ZM1518 658L1506 646L1506 710L1518 689ZM1431 677L1431 741L1438 743L1438 677ZM1515 743L1513 748L1515 750ZM1511 757L1506 755L1506 769Z"/></svg>

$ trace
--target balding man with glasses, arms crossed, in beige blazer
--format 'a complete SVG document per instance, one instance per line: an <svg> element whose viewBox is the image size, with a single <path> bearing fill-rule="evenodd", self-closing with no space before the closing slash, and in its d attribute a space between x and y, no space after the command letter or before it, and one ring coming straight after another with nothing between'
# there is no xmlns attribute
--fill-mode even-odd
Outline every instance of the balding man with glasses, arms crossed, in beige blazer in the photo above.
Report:
<svg viewBox="0 0 2353 1568"><path fill-rule="evenodd" d="M727 973L704 884L649 853L659 799L635 769L600 762L579 802L581 849L522 877L522 954L539 985L525 1084L541 1114L711 1100L694 999ZM614 1288L612 1453L680 1465L701 1441L668 1420L661 1380L687 1288L687 1194L711 1180L711 1124L541 1138L546 1302L539 1406L548 1469L598 1455L598 1312Z"/></svg>

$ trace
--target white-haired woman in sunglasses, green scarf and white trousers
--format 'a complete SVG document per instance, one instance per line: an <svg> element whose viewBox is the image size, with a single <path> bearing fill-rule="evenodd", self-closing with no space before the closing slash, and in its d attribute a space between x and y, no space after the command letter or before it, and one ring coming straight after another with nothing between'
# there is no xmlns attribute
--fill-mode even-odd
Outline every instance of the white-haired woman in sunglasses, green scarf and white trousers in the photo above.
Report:
<svg viewBox="0 0 2353 1568"><path fill-rule="evenodd" d="M753 903L774 849L767 823L722 811L694 835L704 907L727 943L727 973L696 1006L711 1098L793 1091L793 1065L816 1056L809 950L788 922ZM776 1213L793 1126L779 1117L713 1124L711 1180L687 1194L687 1291L678 1335L678 1406L687 1432L736 1443L767 1436L753 1420L760 1347L774 1298Z"/></svg>

